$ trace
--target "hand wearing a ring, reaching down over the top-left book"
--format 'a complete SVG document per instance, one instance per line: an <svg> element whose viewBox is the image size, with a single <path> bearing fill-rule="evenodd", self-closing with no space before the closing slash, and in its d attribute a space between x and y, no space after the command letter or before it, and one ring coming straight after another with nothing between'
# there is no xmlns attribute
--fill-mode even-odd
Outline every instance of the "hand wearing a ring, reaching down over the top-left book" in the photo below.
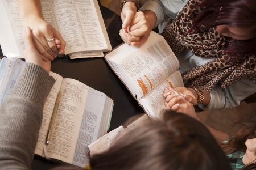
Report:
<svg viewBox="0 0 256 170"><path fill-rule="evenodd" d="M57 54L65 53L66 42L51 24L40 17L30 16L23 25L32 30L34 46L42 56L52 61Z"/></svg>

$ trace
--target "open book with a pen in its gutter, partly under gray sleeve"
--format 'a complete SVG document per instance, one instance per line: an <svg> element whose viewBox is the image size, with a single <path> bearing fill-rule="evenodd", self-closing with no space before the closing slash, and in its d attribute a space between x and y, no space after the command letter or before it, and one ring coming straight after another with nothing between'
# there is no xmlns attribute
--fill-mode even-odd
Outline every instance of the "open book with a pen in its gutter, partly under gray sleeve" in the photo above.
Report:
<svg viewBox="0 0 256 170"><path fill-rule="evenodd" d="M10 94L23 64L24 61L20 59L2 59L0 99ZM56 83L43 108L43 121L35 154L83 167L88 164L88 145L106 134L109 129L113 100L75 79L62 78L52 72L50 75L56 79ZM59 92L59 107L51 139L46 145L47 132Z"/></svg>

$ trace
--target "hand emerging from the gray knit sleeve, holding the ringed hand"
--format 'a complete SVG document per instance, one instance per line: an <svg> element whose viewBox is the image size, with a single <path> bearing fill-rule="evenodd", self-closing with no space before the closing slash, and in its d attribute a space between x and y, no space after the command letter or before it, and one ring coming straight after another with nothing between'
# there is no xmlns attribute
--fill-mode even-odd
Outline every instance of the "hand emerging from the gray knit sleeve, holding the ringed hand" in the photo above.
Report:
<svg viewBox="0 0 256 170"><path fill-rule="evenodd" d="M23 33L23 39L25 44L25 59L26 62L34 63L43 67L48 73L51 70L51 61L46 57L42 56L35 48L32 40L32 31L29 27L25 28Z"/></svg>

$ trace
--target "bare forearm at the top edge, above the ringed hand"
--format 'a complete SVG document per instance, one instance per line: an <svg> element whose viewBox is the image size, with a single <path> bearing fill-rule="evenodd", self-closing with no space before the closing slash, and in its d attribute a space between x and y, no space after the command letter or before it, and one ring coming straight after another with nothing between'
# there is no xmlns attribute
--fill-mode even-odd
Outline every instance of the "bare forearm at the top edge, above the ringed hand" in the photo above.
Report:
<svg viewBox="0 0 256 170"><path fill-rule="evenodd" d="M18 4L19 15L22 22L28 18L42 18L42 7L40 0L16 0Z"/></svg>

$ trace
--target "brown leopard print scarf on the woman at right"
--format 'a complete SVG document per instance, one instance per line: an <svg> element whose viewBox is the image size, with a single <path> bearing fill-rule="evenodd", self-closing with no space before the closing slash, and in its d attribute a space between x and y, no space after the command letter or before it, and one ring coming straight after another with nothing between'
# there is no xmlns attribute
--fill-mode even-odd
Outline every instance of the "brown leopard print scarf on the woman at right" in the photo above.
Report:
<svg viewBox="0 0 256 170"><path fill-rule="evenodd" d="M256 56L243 56L235 63L229 62L229 56L225 55L224 46L236 41L220 35L216 28L200 33L187 34L193 22L193 16L199 10L191 10L202 0L191 0L179 13L175 22L164 28L162 35L171 46L174 53L179 54L184 48L191 50L193 54L200 57L214 57L214 59L202 66L194 67L185 72L183 76L186 87L196 86L207 91L212 91L218 82L221 88L230 86L237 79L248 76L256 83Z"/></svg>

